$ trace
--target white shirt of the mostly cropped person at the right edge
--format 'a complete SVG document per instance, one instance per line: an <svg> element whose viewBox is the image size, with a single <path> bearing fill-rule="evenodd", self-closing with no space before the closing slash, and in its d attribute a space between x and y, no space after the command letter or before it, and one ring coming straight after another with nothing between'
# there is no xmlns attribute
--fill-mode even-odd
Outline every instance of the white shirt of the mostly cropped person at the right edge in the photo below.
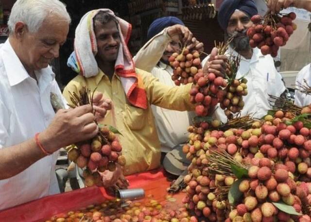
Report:
<svg viewBox="0 0 311 222"><path fill-rule="evenodd" d="M304 80L307 81L308 85L311 85L311 65L310 64L305 66L299 71L296 77L296 85L297 84L305 85ZM303 107L309 104L311 104L311 96L295 90L295 105Z"/></svg>

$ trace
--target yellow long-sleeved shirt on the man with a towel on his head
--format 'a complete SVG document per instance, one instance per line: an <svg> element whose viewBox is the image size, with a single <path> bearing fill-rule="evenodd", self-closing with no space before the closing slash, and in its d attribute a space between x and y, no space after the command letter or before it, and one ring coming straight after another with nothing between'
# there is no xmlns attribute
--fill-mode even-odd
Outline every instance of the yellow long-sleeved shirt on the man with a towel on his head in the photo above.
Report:
<svg viewBox="0 0 311 222"><path fill-rule="evenodd" d="M91 91L97 87L96 91L102 92L105 98L112 100L112 110L107 112L101 123L115 126L123 135L119 136L119 140L126 158L125 175L152 170L160 165L160 142L151 104L179 111L194 109L189 95L191 84L171 87L161 84L146 71L137 68L136 72L141 76L147 92L146 110L137 108L127 101L117 75L114 75L110 82L102 71L91 78L76 76L63 92L66 100L70 102L69 92L78 93L83 86L90 88Z"/></svg>

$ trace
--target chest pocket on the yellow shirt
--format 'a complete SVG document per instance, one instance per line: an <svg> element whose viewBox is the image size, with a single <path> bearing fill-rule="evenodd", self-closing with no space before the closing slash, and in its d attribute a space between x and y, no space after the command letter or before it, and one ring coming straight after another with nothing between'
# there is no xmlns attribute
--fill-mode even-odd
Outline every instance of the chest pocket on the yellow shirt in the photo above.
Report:
<svg viewBox="0 0 311 222"><path fill-rule="evenodd" d="M147 110L125 104L124 120L131 130L140 130L146 124Z"/></svg>

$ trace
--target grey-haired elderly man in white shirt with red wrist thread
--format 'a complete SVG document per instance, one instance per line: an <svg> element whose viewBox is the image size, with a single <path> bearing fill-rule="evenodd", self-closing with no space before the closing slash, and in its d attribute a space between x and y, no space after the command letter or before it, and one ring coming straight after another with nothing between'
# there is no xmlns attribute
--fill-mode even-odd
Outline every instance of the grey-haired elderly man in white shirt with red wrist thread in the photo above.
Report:
<svg viewBox="0 0 311 222"><path fill-rule="evenodd" d="M90 105L55 115L51 104L51 95L66 104L49 63L69 23L59 0L17 0L12 8L0 48L0 210L58 193L58 150L98 132ZM96 102L104 116L102 95Z"/></svg>

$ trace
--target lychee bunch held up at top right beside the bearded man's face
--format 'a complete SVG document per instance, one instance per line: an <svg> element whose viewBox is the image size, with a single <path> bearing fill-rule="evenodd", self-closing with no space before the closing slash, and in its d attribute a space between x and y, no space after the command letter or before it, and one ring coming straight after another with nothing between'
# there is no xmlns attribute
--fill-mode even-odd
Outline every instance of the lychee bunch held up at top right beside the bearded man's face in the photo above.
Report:
<svg viewBox="0 0 311 222"><path fill-rule="evenodd" d="M296 14L291 12L287 15L272 15L268 12L265 17L255 15L251 18L253 26L247 30L250 38L249 45L258 47L263 55L277 56L279 47L285 46L291 34L297 29L293 20Z"/></svg>

